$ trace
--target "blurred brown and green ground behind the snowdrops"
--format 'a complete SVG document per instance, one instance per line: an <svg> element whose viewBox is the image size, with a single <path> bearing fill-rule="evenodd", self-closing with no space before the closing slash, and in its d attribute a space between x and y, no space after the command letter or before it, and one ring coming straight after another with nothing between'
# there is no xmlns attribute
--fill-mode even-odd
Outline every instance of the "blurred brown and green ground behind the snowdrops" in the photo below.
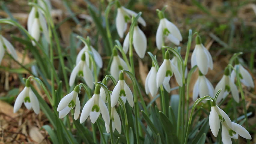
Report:
<svg viewBox="0 0 256 144"><path fill-rule="evenodd" d="M29 0L30 1L30 0ZM27 0L1 0L0 1L0 18L14 19L27 29L27 18L31 10ZM88 7L90 6L100 23L104 28L105 17L104 11L108 5L106 0L50 0L52 4L51 15L54 18L55 26L61 40L62 54L65 57L67 71L70 73L72 66L75 64L75 58L78 51L82 48L81 41L76 39L77 35L84 38L90 36L92 45L98 49L102 55L104 66L99 72L99 79L105 74L110 56L107 55L102 34L96 23L91 17ZM224 68L227 66L229 59L236 52L243 52L239 61L251 73L254 84L255 81L255 51L256 51L256 1L255 0L120 0L120 3L135 12L142 11L142 17L145 19L147 26L140 28L148 38L147 51L157 55L159 64L162 61L162 55L156 48L155 35L159 24L156 9L166 7L165 16L173 22L181 31L183 41L181 42L181 56L184 58L187 46L189 29L198 32L202 38L204 46L209 49L214 62L214 69L209 70L206 77L215 86L221 79ZM115 28L116 6L111 8L109 14L109 23L113 40L119 40ZM128 31L128 30L127 30ZM22 44L19 38L24 38L24 34L11 25L0 25L1 34L7 38L15 47L18 53L18 61L25 67L32 70L33 73L40 75L35 64L34 55L29 52L29 48ZM41 40L44 43L45 39ZM174 47L173 44L166 43L166 46ZM190 69L190 58L195 46L193 38L188 69ZM47 52L47 46L45 51ZM135 67L139 73L136 75L141 86L144 87L145 78L151 67L151 58L146 54L145 58L139 59L135 56ZM59 70L58 57L55 58L56 70ZM59 70L60 71L60 70ZM197 79L197 73L193 76L191 83ZM8 55L5 55L0 64L0 144L2 143L50 143L49 136L43 125L49 124L44 113L36 115L33 111L28 111L22 107L19 113L13 113L14 100L23 89L22 78L28 77L29 74L25 69L12 61ZM171 81L171 87L175 87L175 81ZM37 87L40 93L39 86ZM191 86L192 95L193 86ZM247 102L250 134L253 137L251 143L256 143L256 95L255 87L244 87L245 101ZM177 94L172 91L172 94ZM45 98L44 93L40 93ZM152 98L145 95L145 101ZM191 104L192 104L191 99ZM225 102L225 111L230 110L229 116L232 120L234 113L230 101ZM236 115L243 115L242 105L237 105ZM204 115L202 113L202 115Z"/></svg>

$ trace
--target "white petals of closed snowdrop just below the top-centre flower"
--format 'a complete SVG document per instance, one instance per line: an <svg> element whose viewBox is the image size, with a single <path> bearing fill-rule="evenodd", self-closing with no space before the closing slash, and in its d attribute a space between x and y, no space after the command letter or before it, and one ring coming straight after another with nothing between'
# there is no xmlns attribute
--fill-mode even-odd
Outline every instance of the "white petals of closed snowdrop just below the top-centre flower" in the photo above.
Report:
<svg viewBox="0 0 256 144"><path fill-rule="evenodd" d="M128 34L126 35L123 41L123 50L125 53L127 53L129 49L129 34L130 32L128 32ZM142 32L142 30L139 29L139 26L134 27L133 46L137 55L139 55L140 58L144 58L145 52L147 50L147 38L145 34Z"/></svg>

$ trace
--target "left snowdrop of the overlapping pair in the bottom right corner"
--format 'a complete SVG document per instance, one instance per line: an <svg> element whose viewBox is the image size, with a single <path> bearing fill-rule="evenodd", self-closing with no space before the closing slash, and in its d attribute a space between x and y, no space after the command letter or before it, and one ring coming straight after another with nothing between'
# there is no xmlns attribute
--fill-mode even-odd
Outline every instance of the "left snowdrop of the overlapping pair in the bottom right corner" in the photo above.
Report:
<svg viewBox="0 0 256 144"><path fill-rule="evenodd" d="M211 112L209 115L209 125L214 137L217 137L220 129L220 123L224 121L230 128L233 128L229 116L223 110L221 110L216 103L212 103Z"/></svg>

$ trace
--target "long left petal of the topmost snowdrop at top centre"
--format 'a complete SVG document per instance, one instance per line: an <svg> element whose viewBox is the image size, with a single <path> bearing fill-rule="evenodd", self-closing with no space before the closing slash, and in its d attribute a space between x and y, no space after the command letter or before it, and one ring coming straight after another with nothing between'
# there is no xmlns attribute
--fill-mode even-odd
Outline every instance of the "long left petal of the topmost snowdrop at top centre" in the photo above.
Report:
<svg viewBox="0 0 256 144"><path fill-rule="evenodd" d="M116 28L117 28L117 33L120 36L120 38L123 38L123 33L125 31L125 19L124 15L122 13L121 8L117 8L117 17L116 17Z"/></svg>

